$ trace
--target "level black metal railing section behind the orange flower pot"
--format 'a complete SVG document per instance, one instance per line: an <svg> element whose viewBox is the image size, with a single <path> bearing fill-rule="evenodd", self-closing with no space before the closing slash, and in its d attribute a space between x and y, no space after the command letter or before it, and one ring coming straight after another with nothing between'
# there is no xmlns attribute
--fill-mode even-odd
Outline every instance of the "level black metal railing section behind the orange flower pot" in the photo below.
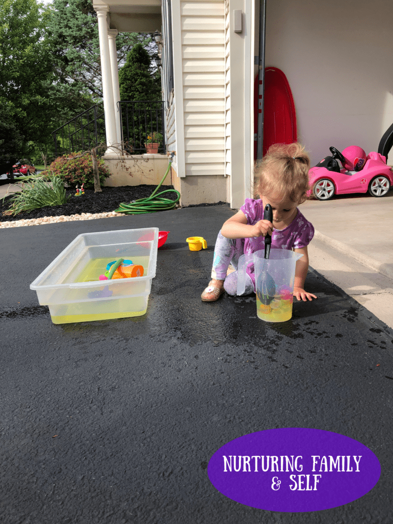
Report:
<svg viewBox="0 0 393 524"><path fill-rule="evenodd" d="M166 153L164 104L158 101L117 102L123 149L128 154L145 153L145 144L151 141L159 143L158 153Z"/></svg>

